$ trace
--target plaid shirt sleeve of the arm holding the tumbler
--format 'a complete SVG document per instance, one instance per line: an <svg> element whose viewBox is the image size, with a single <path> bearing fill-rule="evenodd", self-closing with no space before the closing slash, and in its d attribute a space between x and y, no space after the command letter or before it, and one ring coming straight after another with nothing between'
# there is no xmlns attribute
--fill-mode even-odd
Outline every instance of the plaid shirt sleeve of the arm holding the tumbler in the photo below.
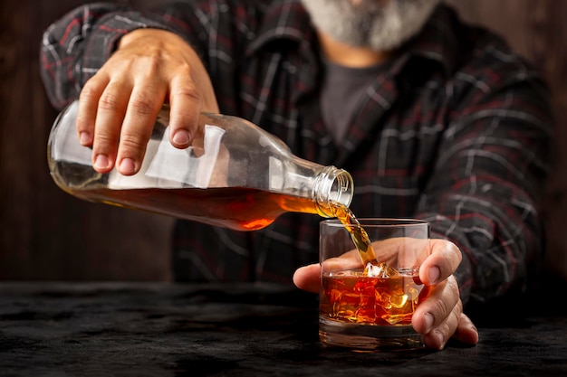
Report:
<svg viewBox="0 0 567 377"><path fill-rule="evenodd" d="M431 221L433 238L462 250L456 278L465 303L524 291L541 267L539 203L553 129L536 72L504 53L487 53L476 67L447 88L455 104L417 214Z"/></svg>

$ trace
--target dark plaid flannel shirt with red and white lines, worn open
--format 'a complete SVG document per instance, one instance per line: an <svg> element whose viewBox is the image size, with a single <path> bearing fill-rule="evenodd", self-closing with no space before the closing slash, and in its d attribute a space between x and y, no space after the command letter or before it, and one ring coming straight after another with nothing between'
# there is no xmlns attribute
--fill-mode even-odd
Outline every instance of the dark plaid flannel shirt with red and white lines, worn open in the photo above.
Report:
<svg viewBox="0 0 567 377"><path fill-rule="evenodd" d="M267 5L264 5L266 3ZM86 5L43 38L53 105L76 98L124 33L158 27L200 53L221 111L264 127L293 153L354 179L358 217L416 217L452 240L464 302L524 288L543 259L539 204L553 119L548 92L505 42L439 5L422 33L369 82L335 146L322 124L322 64L299 1L187 0L140 14ZM262 231L178 221L178 280L291 282L318 260L316 215L287 213Z"/></svg>

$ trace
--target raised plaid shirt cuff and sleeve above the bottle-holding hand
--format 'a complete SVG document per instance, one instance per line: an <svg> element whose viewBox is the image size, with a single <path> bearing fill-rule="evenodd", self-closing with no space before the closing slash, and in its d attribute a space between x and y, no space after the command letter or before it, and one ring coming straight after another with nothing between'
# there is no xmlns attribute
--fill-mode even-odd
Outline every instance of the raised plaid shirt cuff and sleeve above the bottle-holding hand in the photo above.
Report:
<svg viewBox="0 0 567 377"><path fill-rule="evenodd" d="M125 33L159 28L179 33L159 13L142 13L125 5L95 3L73 9L53 23L41 44L41 75L53 107L76 99L89 80L115 51Z"/></svg>

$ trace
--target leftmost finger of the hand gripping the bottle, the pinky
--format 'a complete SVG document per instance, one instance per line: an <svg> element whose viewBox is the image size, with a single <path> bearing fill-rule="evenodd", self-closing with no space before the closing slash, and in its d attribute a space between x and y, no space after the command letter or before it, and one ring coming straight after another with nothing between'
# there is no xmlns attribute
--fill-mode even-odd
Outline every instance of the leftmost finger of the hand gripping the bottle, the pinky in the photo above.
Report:
<svg viewBox="0 0 567 377"><path fill-rule="evenodd" d="M92 146L99 100L108 83L109 79L106 75L97 74L88 80L81 90L76 129L82 146Z"/></svg>

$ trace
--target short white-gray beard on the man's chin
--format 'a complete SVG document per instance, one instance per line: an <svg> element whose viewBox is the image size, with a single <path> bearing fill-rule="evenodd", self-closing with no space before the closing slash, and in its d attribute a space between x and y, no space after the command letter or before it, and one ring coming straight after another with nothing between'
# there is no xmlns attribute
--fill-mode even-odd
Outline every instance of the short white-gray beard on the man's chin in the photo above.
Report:
<svg viewBox="0 0 567 377"><path fill-rule="evenodd" d="M337 42L390 51L417 34L440 0L302 0L312 23Z"/></svg>

